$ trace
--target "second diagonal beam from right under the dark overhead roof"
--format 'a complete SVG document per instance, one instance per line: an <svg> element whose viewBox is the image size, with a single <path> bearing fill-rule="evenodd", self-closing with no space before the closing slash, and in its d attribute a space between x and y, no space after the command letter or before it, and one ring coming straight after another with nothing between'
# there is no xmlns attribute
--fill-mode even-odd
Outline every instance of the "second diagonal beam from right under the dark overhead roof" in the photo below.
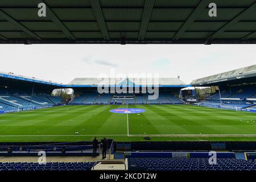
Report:
<svg viewBox="0 0 256 182"><path fill-rule="evenodd" d="M207 7L210 3L210 0L202 0L193 13L188 17L183 26L180 27L180 30L174 35L173 40L178 40L183 35L183 33L188 29L189 26L195 21L196 16L199 15L205 7Z"/></svg>

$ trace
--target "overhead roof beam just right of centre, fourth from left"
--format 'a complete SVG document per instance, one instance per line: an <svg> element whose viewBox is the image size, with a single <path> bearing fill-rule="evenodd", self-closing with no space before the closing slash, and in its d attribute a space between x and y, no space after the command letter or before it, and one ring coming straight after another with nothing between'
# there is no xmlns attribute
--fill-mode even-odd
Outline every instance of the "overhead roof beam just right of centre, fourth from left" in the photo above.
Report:
<svg viewBox="0 0 256 182"><path fill-rule="evenodd" d="M150 22L150 16L155 4L155 0L146 0L143 10L143 16L141 21L141 29L139 30L139 40L144 40L147 32L147 27Z"/></svg>

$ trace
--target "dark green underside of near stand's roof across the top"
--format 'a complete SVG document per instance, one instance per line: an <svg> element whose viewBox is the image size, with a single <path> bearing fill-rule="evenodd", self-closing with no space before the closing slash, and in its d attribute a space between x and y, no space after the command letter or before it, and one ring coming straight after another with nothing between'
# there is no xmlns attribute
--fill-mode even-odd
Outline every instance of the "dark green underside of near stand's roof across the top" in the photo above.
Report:
<svg viewBox="0 0 256 182"><path fill-rule="evenodd" d="M38 16L38 4L47 6ZM0 43L256 43L255 0L1 0Z"/></svg>

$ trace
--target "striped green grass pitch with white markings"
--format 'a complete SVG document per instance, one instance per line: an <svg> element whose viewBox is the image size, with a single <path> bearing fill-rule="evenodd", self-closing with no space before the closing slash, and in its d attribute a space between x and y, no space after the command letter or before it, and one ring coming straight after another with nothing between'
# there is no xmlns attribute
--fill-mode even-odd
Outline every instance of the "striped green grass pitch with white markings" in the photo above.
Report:
<svg viewBox="0 0 256 182"><path fill-rule="evenodd" d="M115 108L146 110L110 113ZM75 133L79 132L78 135ZM256 140L256 114L193 105L72 105L0 115L0 142Z"/></svg>

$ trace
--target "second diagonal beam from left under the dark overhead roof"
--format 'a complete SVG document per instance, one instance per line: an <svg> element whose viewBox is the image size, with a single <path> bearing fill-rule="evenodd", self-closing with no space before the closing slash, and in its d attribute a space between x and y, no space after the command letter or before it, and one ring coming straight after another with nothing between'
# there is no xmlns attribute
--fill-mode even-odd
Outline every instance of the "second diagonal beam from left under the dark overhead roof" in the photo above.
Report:
<svg viewBox="0 0 256 182"><path fill-rule="evenodd" d="M45 3L43 0L33 0L37 5L39 3ZM46 3L45 3L46 4ZM46 4L46 16L52 20L52 22L60 28L60 30L68 36L69 39L75 40L75 36L71 34L67 27L61 22L61 20L53 13L53 11Z"/></svg>

